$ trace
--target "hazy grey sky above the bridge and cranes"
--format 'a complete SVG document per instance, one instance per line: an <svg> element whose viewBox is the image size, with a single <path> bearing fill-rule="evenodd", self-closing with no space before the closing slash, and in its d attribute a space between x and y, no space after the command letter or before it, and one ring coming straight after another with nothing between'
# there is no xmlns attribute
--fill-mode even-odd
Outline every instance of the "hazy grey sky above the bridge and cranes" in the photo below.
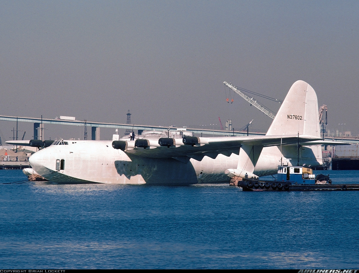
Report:
<svg viewBox="0 0 359 273"><path fill-rule="evenodd" d="M218 129L218 117L254 119L265 132L272 120L237 94L227 103L223 82L283 100L304 80L327 129L358 135L358 14L359 1L0 1L0 112L125 123L130 110L135 124ZM5 140L14 126L0 121ZM19 130L32 138L32 124Z"/></svg>

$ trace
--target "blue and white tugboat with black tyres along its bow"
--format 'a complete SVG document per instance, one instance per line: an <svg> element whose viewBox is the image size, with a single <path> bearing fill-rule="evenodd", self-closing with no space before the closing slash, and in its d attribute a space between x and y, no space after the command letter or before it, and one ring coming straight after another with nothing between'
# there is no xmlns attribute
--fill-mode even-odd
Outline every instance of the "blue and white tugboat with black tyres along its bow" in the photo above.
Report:
<svg viewBox="0 0 359 273"><path fill-rule="evenodd" d="M313 175L311 168L302 166L278 166L277 180L243 178L238 181L243 191L289 190L359 190L358 184L332 184L329 175Z"/></svg>

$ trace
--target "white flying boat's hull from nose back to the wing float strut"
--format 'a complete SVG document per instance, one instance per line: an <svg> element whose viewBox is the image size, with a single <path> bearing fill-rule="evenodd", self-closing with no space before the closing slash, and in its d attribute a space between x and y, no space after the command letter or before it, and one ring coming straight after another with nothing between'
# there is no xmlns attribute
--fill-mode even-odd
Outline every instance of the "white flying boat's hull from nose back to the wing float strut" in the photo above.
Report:
<svg viewBox="0 0 359 273"><path fill-rule="evenodd" d="M39 175L59 183L110 183L181 185L199 182L228 182L224 170L236 167L238 155L219 154L215 159L144 158L113 149L112 142L87 141L53 145L34 153L29 162ZM56 161L64 160L63 170Z"/></svg>

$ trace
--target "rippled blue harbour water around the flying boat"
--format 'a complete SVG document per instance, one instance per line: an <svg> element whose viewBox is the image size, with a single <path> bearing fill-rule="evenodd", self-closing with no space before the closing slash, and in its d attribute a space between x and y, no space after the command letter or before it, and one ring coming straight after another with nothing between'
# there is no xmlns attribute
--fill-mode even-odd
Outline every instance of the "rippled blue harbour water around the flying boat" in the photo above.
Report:
<svg viewBox="0 0 359 273"><path fill-rule="evenodd" d="M359 184L359 171L322 173ZM2 269L359 267L359 191L25 182L0 196Z"/></svg>

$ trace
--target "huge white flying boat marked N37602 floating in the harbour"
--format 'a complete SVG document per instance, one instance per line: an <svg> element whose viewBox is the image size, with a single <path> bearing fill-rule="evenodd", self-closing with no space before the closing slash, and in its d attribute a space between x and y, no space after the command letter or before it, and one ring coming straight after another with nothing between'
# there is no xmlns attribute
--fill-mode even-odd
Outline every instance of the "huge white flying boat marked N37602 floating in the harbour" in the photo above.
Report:
<svg viewBox="0 0 359 273"><path fill-rule="evenodd" d="M29 162L59 183L196 184L275 174L281 161L321 166L324 144L344 143L320 137L317 95L299 80L263 136L57 141Z"/></svg>

